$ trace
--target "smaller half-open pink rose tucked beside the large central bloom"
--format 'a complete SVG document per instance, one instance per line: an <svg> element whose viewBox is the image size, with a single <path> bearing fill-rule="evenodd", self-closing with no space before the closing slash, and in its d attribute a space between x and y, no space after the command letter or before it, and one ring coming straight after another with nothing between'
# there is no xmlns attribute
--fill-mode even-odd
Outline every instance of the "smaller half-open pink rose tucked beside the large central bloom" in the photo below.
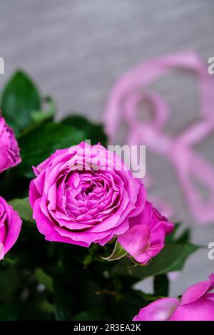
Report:
<svg viewBox="0 0 214 335"><path fill-rule="evenodd" d="M164 247L165 235L173 230L173 223L161 216L146 201L143 211L129 220L130 228L118 237L122 245L138 263L146 264Z"/></svg>

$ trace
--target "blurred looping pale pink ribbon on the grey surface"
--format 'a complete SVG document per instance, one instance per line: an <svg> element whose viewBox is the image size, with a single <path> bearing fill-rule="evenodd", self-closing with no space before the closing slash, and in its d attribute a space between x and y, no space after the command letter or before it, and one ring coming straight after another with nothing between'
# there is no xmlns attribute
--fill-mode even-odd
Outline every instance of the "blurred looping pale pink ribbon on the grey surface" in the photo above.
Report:
<svg viewBox="0 0 214 335"><path fill-rule="evenodd" d="M190 125L175 138L163 132L163 126L170 116L165 101L156 93L146 90L148 84L171 68L184 68L198 75L201 105L201 120ZM139 122L136 116L142 100L148 100L155 111L155 118L145 123ZM203 224L214 223L214 167L195 153L193 145L197 145L213 132L213 109L213 78L196 53L185 52L155 58L125 73L113 87L104 114L106 133L111 143L123 118L128 125L128 145L146 145L170 160L190 212ZM207 187L207 200L196 190L191 177Z"/></svg>

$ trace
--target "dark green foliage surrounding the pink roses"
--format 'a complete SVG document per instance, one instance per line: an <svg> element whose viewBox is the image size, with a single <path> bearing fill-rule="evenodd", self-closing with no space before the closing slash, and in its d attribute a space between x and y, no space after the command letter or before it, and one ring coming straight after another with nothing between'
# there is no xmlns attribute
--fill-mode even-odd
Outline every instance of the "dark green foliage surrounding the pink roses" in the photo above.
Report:
<svg viewBox="0 0 214 335"><path fill-rule="evenodd" d="M47 242L32 219L28 202L29 182L34 177L31 166L81 140L106 145L102 125L79 115L54 122L54 100L41 98L21 71L6 84L1 110L16 132L22 162L1 174L0 194L19 212L23 226L16 245L0 262L0 320L131 320L140 308L166 296L168 272L183 269L185 260L198 249L188 242L188 231L178 237L176 229L165 249L141 267L113 243L87 249ZM147 277L154 277L153 294L134 289Z"/></svg>

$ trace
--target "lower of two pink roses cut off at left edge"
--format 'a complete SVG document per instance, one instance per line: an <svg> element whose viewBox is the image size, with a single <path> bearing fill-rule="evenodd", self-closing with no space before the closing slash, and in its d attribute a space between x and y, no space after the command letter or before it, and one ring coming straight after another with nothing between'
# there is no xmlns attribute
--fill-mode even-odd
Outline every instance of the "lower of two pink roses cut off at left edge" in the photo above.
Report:
<svg viewBox="0 0 214 335"><path fill-rule="evenodd" d="M21 230L21 219L13 207L0 197L0 259L13 247Z"/></svg>

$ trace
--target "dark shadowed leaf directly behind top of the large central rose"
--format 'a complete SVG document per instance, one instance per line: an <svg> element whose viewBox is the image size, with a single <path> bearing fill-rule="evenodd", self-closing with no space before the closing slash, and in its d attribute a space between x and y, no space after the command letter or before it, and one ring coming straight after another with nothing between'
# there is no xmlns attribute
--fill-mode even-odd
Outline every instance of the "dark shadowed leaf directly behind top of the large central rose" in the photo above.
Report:
<svg viewBox="0 0 214 335"><path fill-rule="evenodd" d="M91 123L89 120L80 115L71 115L61 121L66 125L72 125L85 133L85 140L91 140L91 144L98 142L101 145L107 144L107 136L103 131L103 125Z"/></svg>

